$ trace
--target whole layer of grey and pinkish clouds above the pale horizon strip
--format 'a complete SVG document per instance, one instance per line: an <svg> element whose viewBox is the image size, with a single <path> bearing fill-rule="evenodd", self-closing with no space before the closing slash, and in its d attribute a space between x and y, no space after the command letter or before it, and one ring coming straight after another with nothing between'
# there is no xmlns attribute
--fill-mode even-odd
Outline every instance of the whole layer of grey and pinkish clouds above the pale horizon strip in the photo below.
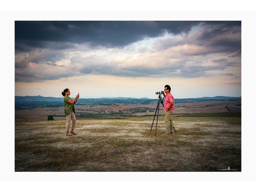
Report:
<svg viewBox="0 0 256 192"><path fill-rule="evenodd" d="M172 35L157 38L166 34ZM125 47L145 38L157 40L151 47ZM106 55L119 48L122 59L93 55L97 48ZM240 21L15 21L15 81L84 74L187 78L238 65Z"/></svg>

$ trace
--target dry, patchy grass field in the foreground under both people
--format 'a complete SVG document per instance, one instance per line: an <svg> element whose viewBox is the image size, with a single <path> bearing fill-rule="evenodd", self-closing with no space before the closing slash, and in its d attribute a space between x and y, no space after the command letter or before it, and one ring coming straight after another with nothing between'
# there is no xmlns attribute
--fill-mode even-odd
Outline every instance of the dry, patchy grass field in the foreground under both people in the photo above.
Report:
<svg viewBox="0 0 256 192"><path fill-rule="evenodd" d="M44 113L44 109L41 111ZM15 172L241 172L241 118L15 120ZM229 169L228 169L229 168Z"/></svg>

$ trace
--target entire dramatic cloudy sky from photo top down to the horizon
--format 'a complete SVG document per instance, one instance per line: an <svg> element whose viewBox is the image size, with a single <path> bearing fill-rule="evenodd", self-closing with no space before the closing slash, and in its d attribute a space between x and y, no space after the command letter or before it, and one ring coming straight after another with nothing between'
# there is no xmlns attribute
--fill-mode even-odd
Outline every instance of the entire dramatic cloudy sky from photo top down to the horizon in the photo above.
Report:
<svg viewBox="0 0 256 192"><path fill-rule="evenodd" d="M15 21L15 95L241 96L241 21Z"/></svg>

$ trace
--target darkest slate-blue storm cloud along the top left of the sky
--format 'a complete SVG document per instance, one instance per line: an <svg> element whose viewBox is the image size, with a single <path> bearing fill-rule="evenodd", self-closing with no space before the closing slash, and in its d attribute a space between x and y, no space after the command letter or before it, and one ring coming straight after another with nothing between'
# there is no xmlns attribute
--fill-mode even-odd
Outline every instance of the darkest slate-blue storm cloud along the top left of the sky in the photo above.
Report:
<svg viewBox="0 0 256 192"><path fill-rule="evenodd" d="M164 32L188 33L198 21L15 21L15 50L67 49L73 44L122 47Z"/></svg>

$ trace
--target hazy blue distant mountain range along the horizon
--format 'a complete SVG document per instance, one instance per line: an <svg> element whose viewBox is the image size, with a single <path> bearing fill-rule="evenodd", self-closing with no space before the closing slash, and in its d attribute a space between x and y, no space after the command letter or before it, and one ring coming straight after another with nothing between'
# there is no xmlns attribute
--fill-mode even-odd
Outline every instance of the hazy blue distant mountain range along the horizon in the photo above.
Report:
<svg viewBox="0 0 256 192"><path fill-rule="evenodd" d="M80 98L79 101L83 100L148 100L148 98L131 98L131 97L102 97L102 98L91 98L91 99L83 99ZM227 96L215 96L215 97L200 97L200 98L184 98L184 99L175 99L175 101L181 101L181 100L215 100L215 99L241 99L241 97L227 97ZM158 99L149 99L149 100L158 100ZM43 97L43 96L15 96L15 102L56 102L56 101L63 101L63 97Z"/></svg>

